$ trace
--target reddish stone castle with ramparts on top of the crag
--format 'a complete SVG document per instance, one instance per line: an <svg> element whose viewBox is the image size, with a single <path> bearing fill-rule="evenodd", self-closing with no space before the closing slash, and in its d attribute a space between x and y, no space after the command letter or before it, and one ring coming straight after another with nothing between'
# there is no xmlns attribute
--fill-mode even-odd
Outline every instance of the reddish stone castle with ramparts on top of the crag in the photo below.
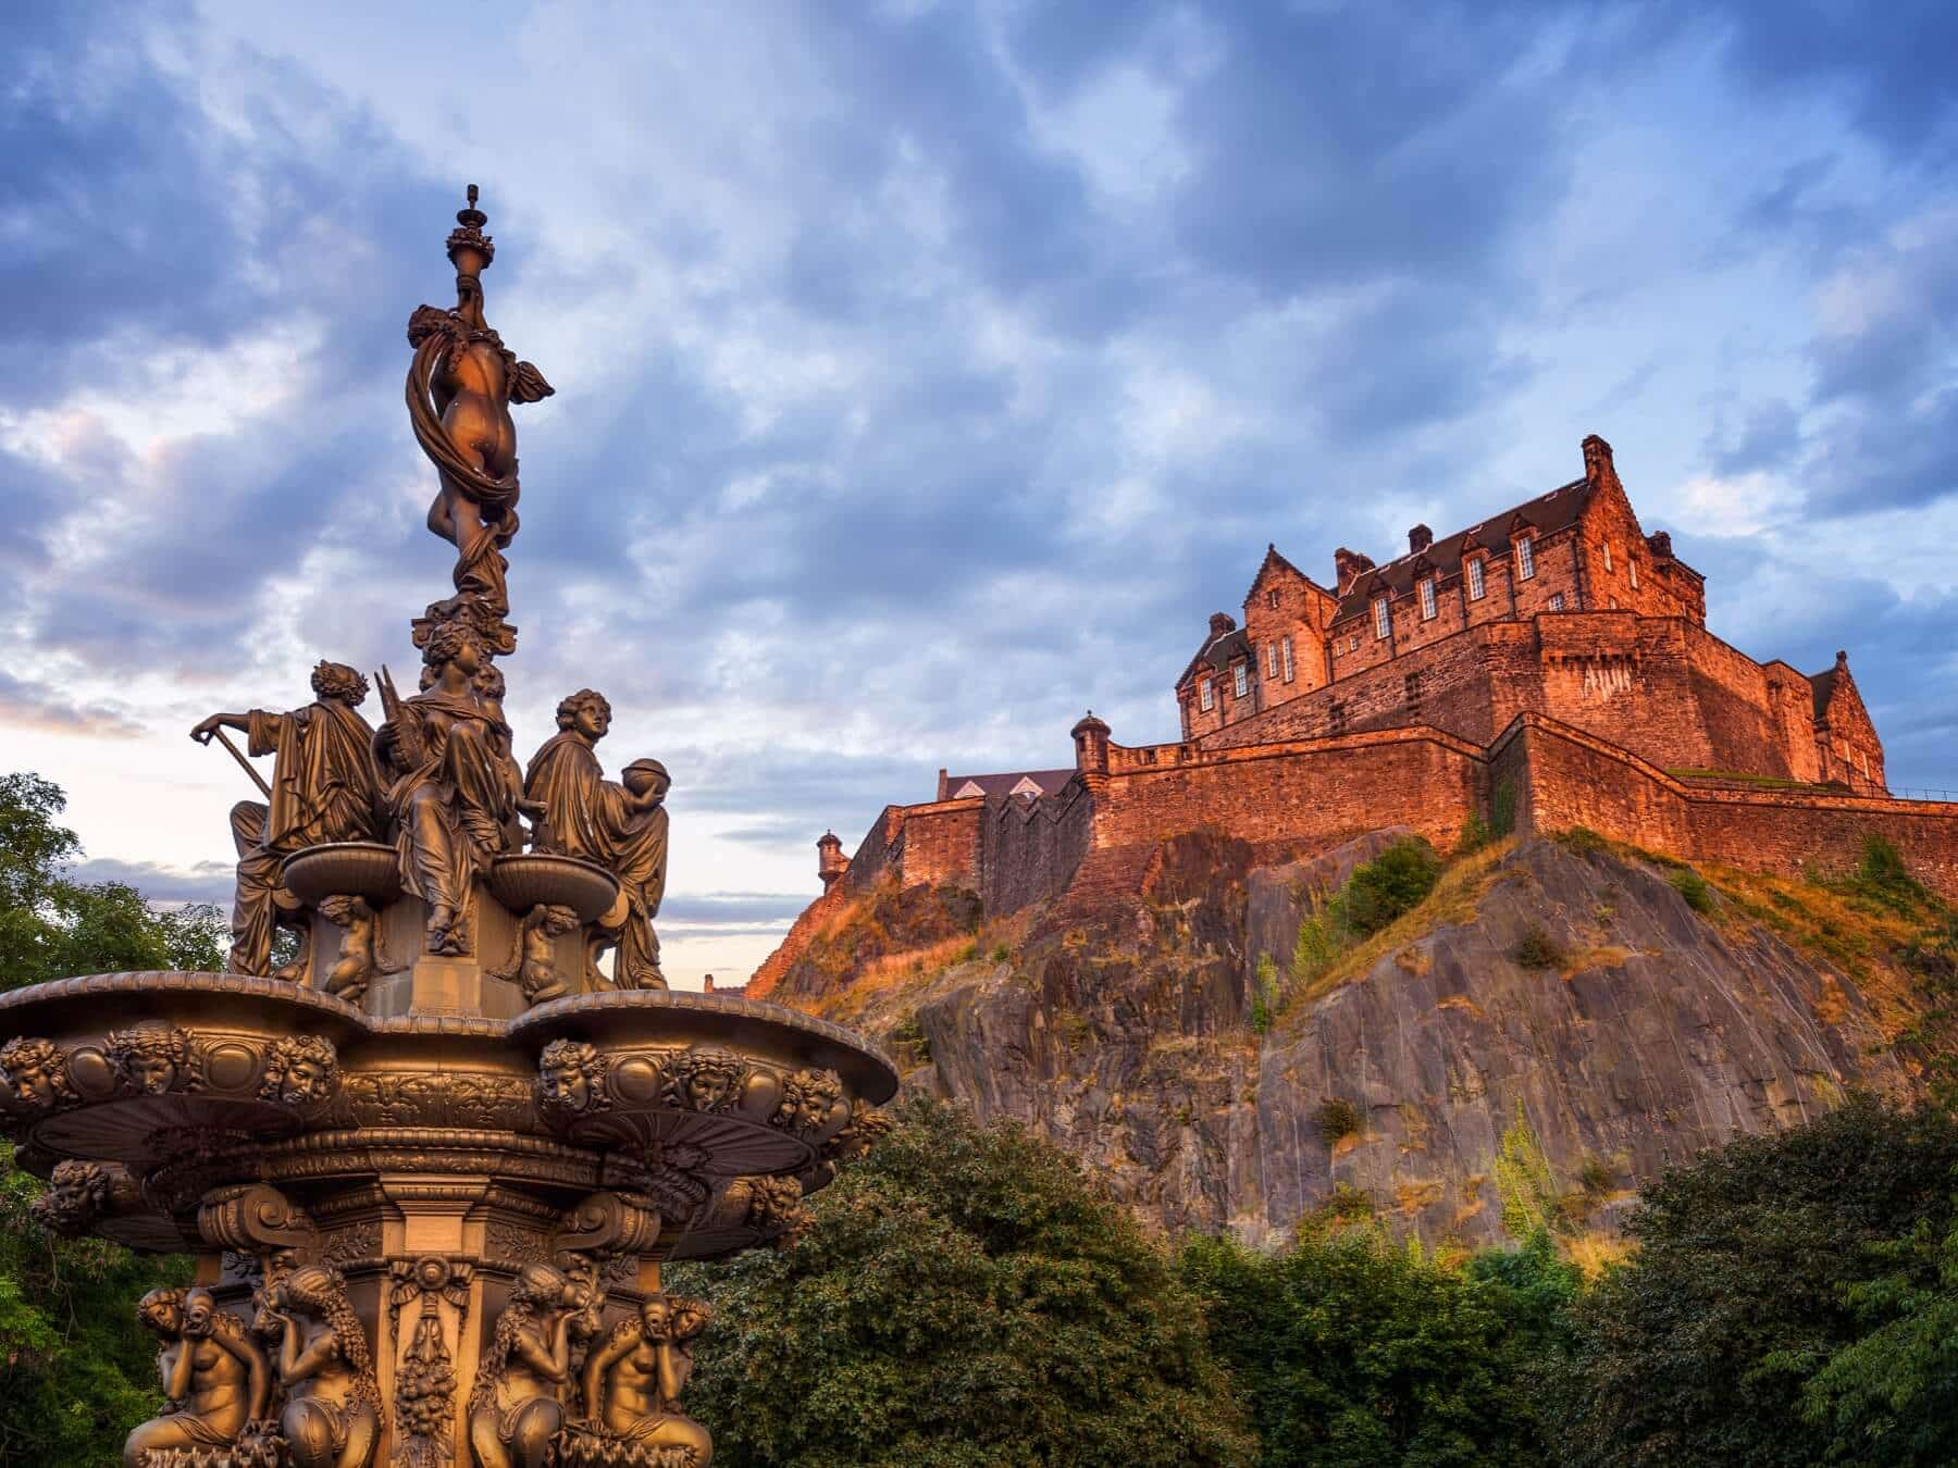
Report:
<svg viewBox="0 0 1958 1468"><path fill-rule="evenodd" d="M1140 885L1157 844L1210 828L1271 849L1406 826L1586 826L1766 871L1848 861L1870 834L1958 896L1958 814L1891 799L1848 656L1756 662L1705 626L1703 577L1645 532L1598 436L1584 476L1322 585L1269 548L1241 619L1210 617L1175 685L1183 740L1122 746L1093 714L1067 769L950 775L891 804L854 855L818 842L824 896L952 883L1051 920Z"/></svg>

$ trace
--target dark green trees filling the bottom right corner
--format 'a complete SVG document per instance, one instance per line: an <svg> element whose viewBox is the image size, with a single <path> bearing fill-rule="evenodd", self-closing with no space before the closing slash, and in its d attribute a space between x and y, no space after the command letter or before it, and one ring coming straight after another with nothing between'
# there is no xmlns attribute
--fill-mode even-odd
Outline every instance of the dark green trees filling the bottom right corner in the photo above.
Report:
<svg viewBox="0 0 1958 1468"><path fill-rule="evenodd" d="M1854 1098L1649 1184L1576 1311L1566 1460L1958 1458L1954 1167L1946 1110Z"/></svg>

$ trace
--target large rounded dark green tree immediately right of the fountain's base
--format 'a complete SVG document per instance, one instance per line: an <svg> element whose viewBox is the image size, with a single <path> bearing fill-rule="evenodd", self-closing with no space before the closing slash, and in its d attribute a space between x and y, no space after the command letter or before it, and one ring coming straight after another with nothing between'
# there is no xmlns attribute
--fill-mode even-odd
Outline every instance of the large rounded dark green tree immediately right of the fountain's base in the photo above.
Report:
<svg viewBox="0 0 1958 1468"><path fill-rule="evenodd" d="M715 1462L1247 1464L1202 1307L1018 1125L910 1102L815 1233L670 1288L715 1302L687 1401Z"/></svg>

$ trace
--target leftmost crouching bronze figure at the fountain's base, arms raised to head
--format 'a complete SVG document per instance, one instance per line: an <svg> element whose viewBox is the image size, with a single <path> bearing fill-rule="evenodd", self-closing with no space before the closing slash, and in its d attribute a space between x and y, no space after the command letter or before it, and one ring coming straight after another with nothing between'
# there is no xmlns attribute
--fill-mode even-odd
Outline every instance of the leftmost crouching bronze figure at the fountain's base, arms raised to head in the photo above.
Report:
<svg viewBox="0 0 1958 1468"><path fill-rule="evenodd" d="M149 1468L172 1448L227 1448L264 1417L272 1396L264 1353L210 1290L151 1290L135 1313L163 1341L157 1370L170 1409L129 1433L125 1468Z"/></svg>

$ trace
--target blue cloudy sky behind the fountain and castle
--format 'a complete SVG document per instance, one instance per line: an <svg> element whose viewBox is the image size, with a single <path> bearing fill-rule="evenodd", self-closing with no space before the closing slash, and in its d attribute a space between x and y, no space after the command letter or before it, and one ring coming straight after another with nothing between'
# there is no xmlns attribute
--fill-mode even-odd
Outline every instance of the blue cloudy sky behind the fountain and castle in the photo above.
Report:
<svg viewBox="0 0 1958 1468"><path fill-rule="evenodd" d="M478 182L523 409L519 744L674 769L674 977L940 765L1067 763L1267 540L1580 472L1958 787L1958 8L470 4L0 16L0 765L223 895L184 732L444 585L401 337Z"/></svg>

